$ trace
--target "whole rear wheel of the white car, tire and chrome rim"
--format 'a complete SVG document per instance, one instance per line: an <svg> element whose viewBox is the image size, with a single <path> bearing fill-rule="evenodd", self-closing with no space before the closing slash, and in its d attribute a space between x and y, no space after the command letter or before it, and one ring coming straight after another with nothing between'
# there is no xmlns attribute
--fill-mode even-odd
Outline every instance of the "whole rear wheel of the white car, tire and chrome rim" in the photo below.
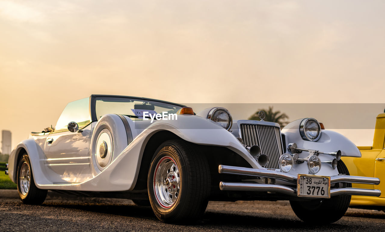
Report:
<svg viewBox="0 0 385 232"><path fill-rule="evenodd" d="M47 190L37 188L33 181L27 153L23 154L17 167L17 192L22 202L29 205L40 205L47 197Z"/></svg>

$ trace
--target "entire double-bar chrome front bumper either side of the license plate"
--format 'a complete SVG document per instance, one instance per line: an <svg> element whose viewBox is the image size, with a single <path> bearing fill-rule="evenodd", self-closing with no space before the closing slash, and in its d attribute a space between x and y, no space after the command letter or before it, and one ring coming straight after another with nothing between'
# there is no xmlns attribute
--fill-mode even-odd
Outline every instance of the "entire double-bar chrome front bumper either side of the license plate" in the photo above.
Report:
<svg viewBox="0 0 385 232"><path fill-rule="evenodd" d="M218 172L221 174L235 174L243 176L255 176L270 179L284 180L293 184L297 184L297 176L287 174L284 172L277 172L274 170L267 169L254 169L247 167L234 167L219 165ZM380 184L380 179L374 177L364 176L331 176L330 184L345 182L345 183L356 183L356 184ZM288 196L297 197L297 189L278 185L278 184L259 184L259 183L229 183L220 182L219 189L228 191L255 191L255 192L276 192L286 194ZM358 196L373 196L379 197L381 191L378 189L358 189L358 188L335 188L330 189L330 196L338 195L358 195Z"/></svg>

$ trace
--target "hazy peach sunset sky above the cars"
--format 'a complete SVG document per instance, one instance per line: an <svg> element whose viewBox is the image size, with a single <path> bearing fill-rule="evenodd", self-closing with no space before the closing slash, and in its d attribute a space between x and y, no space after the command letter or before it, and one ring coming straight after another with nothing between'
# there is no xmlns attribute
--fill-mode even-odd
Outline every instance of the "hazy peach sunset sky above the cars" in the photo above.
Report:
<svg viewBox="0 0 385 232"><path fill-rule="evenodd" d="M0 0L0 130L16 146L92 93L258 103L229 107L242 119L272 103L381 103L333 117L373 126L385 108L384 12L382 0ZM331 114L289 106L291 120ZM372 129L345 133L370 146Z"/></svg>

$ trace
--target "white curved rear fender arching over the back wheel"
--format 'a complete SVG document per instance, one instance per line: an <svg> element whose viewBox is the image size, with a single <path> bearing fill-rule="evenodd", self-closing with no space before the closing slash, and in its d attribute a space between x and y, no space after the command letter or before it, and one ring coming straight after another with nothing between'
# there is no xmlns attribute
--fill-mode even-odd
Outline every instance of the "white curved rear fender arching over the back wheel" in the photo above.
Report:
<svg viewBox="0 0 385 232"><path fill-rule="evenodd" d="M17 158L21 149L25 149L28 154L35 184L39 185L50 183L50 181L47 179L48 174L45 173L44 159L40 158L44 157L44 151L39 145L35 143L33 138L21 141L12 150L8 159L8 173L10 179L15 183L17 182Z"/></svg>

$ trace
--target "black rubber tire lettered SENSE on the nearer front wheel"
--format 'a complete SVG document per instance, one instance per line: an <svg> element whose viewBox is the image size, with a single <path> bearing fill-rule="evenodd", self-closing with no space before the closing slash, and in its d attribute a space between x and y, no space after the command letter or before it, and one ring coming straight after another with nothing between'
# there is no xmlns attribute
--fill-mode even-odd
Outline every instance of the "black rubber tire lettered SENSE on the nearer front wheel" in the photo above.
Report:
<svg viewBox="0 0 385 232"><path fill-rule="evenodd" d="M165 159L166 161L164 161ZM175 202L172 203L172 205L166 205L169 208L162 207L160 201L157 200L154 184L155 170L161 169L161 162L168 162L167 159L171 161L169 164L176 164L179 170L176 175L179 175L178 179L180 177L178 184L176 184L180 186L180 188L177 188L179 192L174 193L176 196L174 198L176 199ZM170 169L164 172L168 174L174 173L172 171L170 172ZM159 171L159 173L161 172ZM162 176L160 178L162 178ZM172 178L174 178L174 176ZM211 177L208 162L202 152L199 152L197 145L176 139L162 143L156 150L149 168L147 188L152 210L158 219L173 223L194 222L201 217L206 210L210 186ZM171 191L173 191L172 184L170 187ZM170 187L168 187L168 189L170 189ZM176 188L175 184L173 188ZM171 191L167 192L165 189L165 192L170 195Z"/></svg>

